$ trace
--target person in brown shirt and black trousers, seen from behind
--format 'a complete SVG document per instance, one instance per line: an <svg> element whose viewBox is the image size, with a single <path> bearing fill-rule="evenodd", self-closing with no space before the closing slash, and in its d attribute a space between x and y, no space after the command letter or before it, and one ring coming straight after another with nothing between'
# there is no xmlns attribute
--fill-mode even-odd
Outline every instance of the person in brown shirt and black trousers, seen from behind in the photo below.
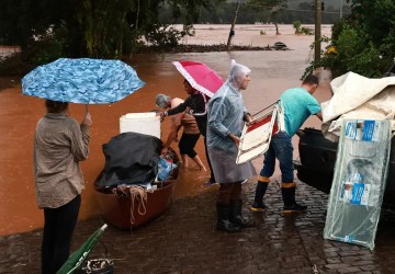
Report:
<svg viewBox="0 0 395 274"><path fill-rule="evenodd" d="M36 203L44 209L42 273L56 273L70 254L71 236L81 205L83 175L79 162L88 158L90 113L82 123L69 117L67 102L45 101L47 113L34 136Z"/></svg>

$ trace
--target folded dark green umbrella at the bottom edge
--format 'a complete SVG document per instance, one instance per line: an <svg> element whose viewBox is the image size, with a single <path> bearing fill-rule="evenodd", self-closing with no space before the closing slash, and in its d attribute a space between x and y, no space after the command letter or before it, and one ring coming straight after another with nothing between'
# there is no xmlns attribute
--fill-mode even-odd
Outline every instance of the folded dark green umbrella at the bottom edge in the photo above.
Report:
<svg viewBox="0 0 395 274"><path fill-rule="evenodd" d="M100 236L104 232L108 225L103 225L93 235L91 235L88 240L86 240L82 246L70 254L67 261L61 265L61 267L56 272L56 274L69 274L74 273L78 267L81 266L82 262L87 259L88 254L91 252L93 247L99 241Z"/></svg>

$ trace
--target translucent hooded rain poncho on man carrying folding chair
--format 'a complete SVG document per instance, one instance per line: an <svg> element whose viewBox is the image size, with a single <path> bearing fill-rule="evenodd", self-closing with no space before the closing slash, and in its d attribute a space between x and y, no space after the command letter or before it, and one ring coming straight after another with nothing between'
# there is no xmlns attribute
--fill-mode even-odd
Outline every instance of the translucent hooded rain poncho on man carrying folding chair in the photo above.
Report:
<svg viewBox="0 0 395 274"><path fill-rule="evenodd" d="M228 137L241 136L247 111L240 87L250 71L233 60L227 81L208 102L207 151L218 183L235 183L256 175L251 162L236 164L237 147Z"/></svg>

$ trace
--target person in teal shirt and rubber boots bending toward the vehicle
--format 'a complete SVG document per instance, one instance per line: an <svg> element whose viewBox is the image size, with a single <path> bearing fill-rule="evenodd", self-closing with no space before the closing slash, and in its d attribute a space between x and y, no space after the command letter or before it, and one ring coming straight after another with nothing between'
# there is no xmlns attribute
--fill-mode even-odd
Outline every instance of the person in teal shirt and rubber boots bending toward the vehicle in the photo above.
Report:
<svg viewBox="0 0 395 274"><path fill-rule="evenodd" d="M263 168L258 178L255 201L250 208L252 212L262 212L266 208L263 196L274 173L275 159L280 162L284 213L303 213L307 209L307 206L300 205L295 201L296 183L291 140L311 115L316 115L323 121L319 103L313 96L317 87L317 77L309 75L304 79L301 88L289 89L280 96L285 128L272 136L269 149L264 153Z"/></svg>

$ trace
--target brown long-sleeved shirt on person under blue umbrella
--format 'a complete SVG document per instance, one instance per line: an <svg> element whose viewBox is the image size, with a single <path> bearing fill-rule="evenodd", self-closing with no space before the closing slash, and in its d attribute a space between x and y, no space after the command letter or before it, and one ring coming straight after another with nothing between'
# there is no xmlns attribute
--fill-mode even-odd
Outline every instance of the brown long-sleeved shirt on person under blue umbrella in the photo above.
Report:
<svg viewBox="0 0 395 274"><path fill-rule="evenodd" d="M57 208L81 193L79 161L88 158L89 128L64 113L47 113L38 121L33 164L40 208Z"/></svg>

